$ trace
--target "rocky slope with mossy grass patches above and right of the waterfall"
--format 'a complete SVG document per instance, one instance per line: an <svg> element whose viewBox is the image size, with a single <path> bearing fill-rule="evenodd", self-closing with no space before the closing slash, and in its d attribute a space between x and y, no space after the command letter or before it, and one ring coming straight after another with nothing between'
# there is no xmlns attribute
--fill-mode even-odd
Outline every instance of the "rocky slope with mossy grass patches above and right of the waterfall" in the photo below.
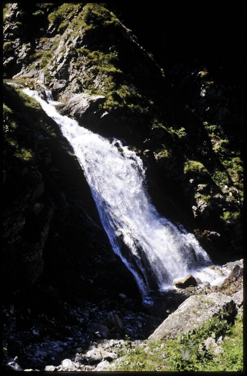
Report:
<svg viewBox="0 0 247 376"><path fill-rule="evenodd" d="M65 104L75 101L64 111L71 109L91 130L122 138L140 151L149 149L142 157L158 210L186 223L216 261L242 252L241 140L239 133L233 135L232 124L239 128L243 115L241 100L231 100L232 95L241 98L239 85L218 82L222 62L213 67L220 79L211 77L186 38L191 61L176 60L177 43L172 41L167 55L162 33L159 50L166 58L161 69L110 9L90 3L6 5L5 77L40 82ZM131 22L127 13L126 22ZM205 59L211 66L210 57ZM181 89L186 95L181 96ZM91 98L89 107L85 92ZM93 95L100 100L92 102Z"/></svg>

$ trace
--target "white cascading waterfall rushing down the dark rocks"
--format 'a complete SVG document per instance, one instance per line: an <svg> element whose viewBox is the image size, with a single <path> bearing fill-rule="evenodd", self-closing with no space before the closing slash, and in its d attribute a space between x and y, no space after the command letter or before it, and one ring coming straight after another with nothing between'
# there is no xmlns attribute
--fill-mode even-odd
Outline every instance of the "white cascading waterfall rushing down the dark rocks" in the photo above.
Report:
<svg viewBox="0 0 247 376"><path fill-rule="evenodd" d="M112 248L132 272L143 299L165 289L210 259L194 235L161 217L144 187L141 159L117 139L107 140L48 103L38 92L23 90L40 103L72 145L82 166Z"/></svg>

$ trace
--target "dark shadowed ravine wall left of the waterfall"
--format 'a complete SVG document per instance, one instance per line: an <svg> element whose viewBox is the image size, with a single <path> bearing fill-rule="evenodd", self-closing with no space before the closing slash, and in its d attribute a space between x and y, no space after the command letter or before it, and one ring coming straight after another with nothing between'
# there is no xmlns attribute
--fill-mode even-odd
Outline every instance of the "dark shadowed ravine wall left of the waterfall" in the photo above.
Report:
<svg viewBox="0 0 247 376"><path fill-rule="evenodd" d="M26 95L11 86L4 93L4 115L6 299L10 298L11 287L16 290L37 282L43 268L48 279L64 284L64 293L73 286L76 296L77 288L83 290L87 279L97 277L100 281L101 274L107 281L101 269L109 264L116 287L125 268L111 250L82 169L67 140L37 103L29 102ZM98 272L90 272L91 258ZM59 271L57 276L55 271ZM108 282L114 290L112 272ZM132 281L131 275L127 279ZM124 286L128 288L127 285L126 280ZM130 286L135 290L134 283L130 282Z"/></svg>

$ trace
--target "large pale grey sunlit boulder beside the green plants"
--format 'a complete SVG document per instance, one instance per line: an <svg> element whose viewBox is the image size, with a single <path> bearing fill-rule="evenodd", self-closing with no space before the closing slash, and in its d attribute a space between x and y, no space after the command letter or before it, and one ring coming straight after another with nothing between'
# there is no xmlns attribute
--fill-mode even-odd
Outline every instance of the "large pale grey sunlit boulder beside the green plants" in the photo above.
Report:
<svg viewBox="0 0 247 376"><path fill-rule="evenodd" d="M231 297L215 292L206 296L190 296L148 339L156 341L175 338L180 333L199 327L210 317L219 315L222 310L226 312L228 319L235 317L236 304Z"/></svg>

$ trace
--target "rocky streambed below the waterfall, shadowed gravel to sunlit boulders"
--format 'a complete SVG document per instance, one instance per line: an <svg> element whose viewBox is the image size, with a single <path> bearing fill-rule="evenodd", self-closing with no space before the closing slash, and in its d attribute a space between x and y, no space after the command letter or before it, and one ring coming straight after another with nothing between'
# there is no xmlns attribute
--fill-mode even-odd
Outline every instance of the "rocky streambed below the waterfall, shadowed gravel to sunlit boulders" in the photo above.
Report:
<svg viewBox="0 0 247 376"><path fill-rule="evenodd" d="M114 364L130 347L141 346L149 351L149 341L175 338L222 310L234 320L243 311L243 260L224 268L229 275L221 286L191 285L160 292L153 296L152 306L145 307L138 299L120 293L118 300L106 298L97 304L85 300L77 305L63 302L60 317L4 307L4 368L114 370ZM187 279L190 284L188 280L193 284L193 278Z"/></svg>

